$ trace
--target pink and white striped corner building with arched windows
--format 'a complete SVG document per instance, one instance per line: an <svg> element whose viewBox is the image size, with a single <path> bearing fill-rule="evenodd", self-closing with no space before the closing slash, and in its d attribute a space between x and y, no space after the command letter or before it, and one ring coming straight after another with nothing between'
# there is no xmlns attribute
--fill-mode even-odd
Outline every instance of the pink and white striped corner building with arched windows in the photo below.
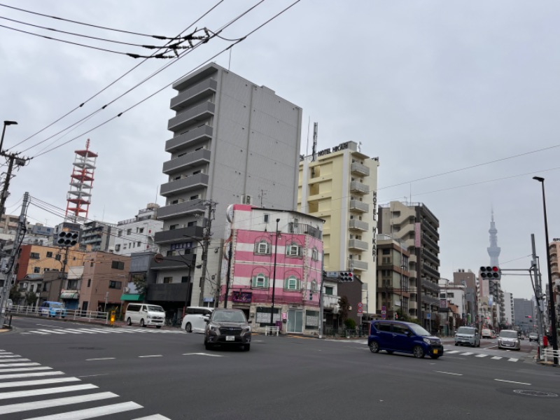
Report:
<svg viewBox="0 0 560 420"><path fill-rule="evenodd" d="M232 204L228 222L220 301L227 295L257 330L280 322L283 332L317 332L323 219Z"/></svg>

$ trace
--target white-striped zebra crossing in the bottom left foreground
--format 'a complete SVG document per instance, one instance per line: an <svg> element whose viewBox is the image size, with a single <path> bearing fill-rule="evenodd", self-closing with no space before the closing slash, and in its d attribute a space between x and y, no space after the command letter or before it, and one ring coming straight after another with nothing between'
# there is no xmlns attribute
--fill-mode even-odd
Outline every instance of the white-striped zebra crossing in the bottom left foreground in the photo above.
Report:
<svg viewBox="0 0 560 420"><path fill-rule="evenodd" d="M169 420L161 414L146 416L139 411L135 416L134 410L144 407L134 401L119 402L118 398L116 393L102 392L96 385L84 384L77 377L0 350L0 416L18 413L28 420L80 420L103 416L106 420L111 419L111 414L118 414L119 419L130 414L127 417L130 420ZM53 414L41 415L45 409Z"/></svg>

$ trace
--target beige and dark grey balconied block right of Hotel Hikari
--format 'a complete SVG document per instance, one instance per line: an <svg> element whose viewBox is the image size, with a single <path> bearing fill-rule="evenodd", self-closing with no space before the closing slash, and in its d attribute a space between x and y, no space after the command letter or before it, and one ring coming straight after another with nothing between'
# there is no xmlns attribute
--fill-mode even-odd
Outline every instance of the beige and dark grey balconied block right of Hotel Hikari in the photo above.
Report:
<svg viewBox="0 0 560 420"><path fill-rule="evenodd" d="M440 306L440 221L425 204L391 202L379 206L377 227L409 252L408 314L430 328Z"/></svg>

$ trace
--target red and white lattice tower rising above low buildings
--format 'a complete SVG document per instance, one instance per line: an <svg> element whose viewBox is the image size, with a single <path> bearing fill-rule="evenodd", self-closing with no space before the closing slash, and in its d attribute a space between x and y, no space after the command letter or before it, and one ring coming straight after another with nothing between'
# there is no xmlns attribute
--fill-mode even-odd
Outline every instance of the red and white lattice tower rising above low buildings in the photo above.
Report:
<svg viewBox="0 0 560 420"><path fill-rule="evenodd" d="M66 219L76 223L87 218L90 209L97 153L90 151L90 139L85 142L85 150L74 152L76 158L70 176L70 190L66 195Z"/></svg>

